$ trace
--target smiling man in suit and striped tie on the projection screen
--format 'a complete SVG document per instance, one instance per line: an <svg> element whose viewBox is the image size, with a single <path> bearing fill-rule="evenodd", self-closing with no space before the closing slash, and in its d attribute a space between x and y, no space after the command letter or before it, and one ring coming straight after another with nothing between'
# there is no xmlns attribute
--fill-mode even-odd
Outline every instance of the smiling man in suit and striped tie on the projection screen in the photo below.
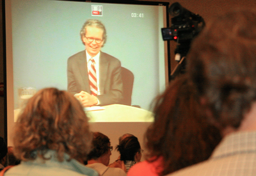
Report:
<svg viewBox="0 0 256 176"><path fill-rule="evenodd" d="M120 103L123 99L121 63L100 51L107 37L104 25L99 20L86 20L80 35L85 51L68 58L68 92L84 107Z"/></svg>

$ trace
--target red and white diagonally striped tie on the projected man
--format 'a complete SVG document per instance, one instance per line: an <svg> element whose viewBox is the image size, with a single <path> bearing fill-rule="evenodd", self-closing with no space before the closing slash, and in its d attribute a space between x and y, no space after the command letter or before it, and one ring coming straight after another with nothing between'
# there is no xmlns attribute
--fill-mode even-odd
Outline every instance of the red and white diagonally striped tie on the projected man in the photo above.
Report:
<svg viewBox="0 0 256 176"><path fill-rule="evenodd" d="M96 76L96 69L95 69L95 61L93 58L90 59L92 61L91 67L89 68L89 81L90 81L90 89L91 94L96 96L98 94L97 88L97 76Z"/></svg>

